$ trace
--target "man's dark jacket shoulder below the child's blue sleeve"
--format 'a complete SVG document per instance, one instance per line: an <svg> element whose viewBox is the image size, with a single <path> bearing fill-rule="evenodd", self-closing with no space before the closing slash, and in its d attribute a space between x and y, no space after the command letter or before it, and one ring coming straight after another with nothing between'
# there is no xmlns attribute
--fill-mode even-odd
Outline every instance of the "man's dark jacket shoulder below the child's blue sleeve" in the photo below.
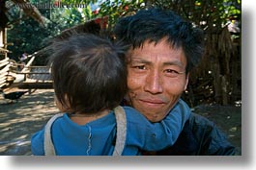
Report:
<svg viewBox="0 0 256 170"><path fill-rule="evenodd" d="M176 143L157 155L198 156L198 155L234 155L235 147L229 143L226 135L204 116L191 113L183 132Z"/></svg>

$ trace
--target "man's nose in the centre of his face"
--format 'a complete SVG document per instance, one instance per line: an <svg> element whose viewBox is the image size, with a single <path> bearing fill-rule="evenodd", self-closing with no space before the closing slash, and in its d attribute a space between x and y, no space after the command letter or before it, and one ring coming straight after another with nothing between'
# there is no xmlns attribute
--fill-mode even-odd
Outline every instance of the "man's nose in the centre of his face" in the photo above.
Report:
<svg viewBox="0 0 256 170"><path fill-rule="evenodd" d="M144 90L150 92L152 94L161 93L162 89L162 81L158 71L152 71L147 76Z"/></svg>

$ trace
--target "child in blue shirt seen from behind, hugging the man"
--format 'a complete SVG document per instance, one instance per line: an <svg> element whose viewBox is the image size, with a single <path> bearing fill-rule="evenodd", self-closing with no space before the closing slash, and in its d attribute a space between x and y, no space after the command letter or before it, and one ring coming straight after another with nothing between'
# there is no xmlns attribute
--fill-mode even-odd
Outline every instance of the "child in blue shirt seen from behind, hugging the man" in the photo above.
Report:
<svg viewBox="0 0 256 170"><path fill-rule="evenodd" d="M50 49L56 104L64 113L32 136L33 155L136 156L177 140L190 114L182 100L157 123L119 107L127 92L124 48L79 34L55 41Z"/></svg>

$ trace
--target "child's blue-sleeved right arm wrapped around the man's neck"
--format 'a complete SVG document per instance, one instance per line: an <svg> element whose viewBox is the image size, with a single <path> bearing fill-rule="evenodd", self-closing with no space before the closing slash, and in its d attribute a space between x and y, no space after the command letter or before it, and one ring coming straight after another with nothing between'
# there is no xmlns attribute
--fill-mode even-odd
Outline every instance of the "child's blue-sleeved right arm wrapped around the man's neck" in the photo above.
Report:
<svg viewBox="0 0 256 170"><path fill-rule="evenodd" d="M147 151L158 151L172 146L189 116L190 109L182 100L179 100L163 120L156 123L150 122L144 115L132 109L127 116L127 144Z"/></svg>

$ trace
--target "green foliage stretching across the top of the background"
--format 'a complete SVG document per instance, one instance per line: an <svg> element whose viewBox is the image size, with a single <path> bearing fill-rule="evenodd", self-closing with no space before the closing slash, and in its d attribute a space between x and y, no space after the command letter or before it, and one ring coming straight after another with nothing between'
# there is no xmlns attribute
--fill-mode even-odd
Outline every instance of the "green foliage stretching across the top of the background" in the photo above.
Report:
<svg viewBox="0 0 256 170"><path fill-rule="evenodd" d="M48 3L48 0L30 0L32 4ZM32 18L26 17L18 8L12 8L13 29L8 31L11 58L24 52L32 54L46 45L47 40L63 30L96 17L107 16L107 28L112 30L116 21L140 9L160 7L171 9L192 20L208 32L222 29L230 16L240 18L241 0L52 0L51 4L62 3L62 8L39 9L50 20L46 27L40 26ZM85 8L69 8L74 5ZM100 10L99 10L100 9Z"/></svg>

